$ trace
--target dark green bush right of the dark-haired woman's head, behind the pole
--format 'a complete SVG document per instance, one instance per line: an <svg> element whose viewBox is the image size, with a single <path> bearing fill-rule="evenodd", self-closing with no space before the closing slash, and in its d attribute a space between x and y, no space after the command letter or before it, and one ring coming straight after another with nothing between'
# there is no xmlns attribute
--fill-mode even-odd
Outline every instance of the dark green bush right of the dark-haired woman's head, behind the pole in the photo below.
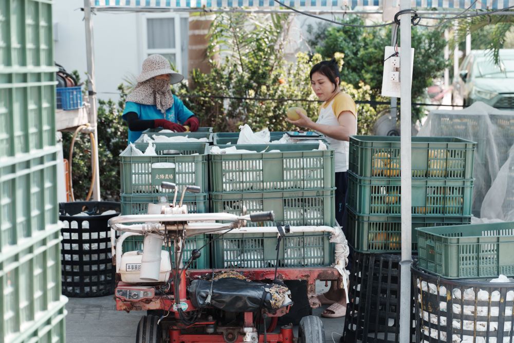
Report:
<svg viewBox="0 0 514 343"><path fill-rule="evenodd" d="M349 24L363 24L359 17L351 16L344 20ZM371 88L373 98L387 101L380 96L382 87L384 47L391 45L391 26L384 28L353 28L346 26L320 25L309 27L309 45L316 47L324 59L332 58L336 52L345 55L341 78L358 87L364 82ZM399 30L398 30L399 37ZM444 47L446 41L440 30L412 27L412 47L414 65L412 79L412 99L419 101L425 88L442 73L446 66ZM419 118L421 109L413 107L414 119Z"/></svg>

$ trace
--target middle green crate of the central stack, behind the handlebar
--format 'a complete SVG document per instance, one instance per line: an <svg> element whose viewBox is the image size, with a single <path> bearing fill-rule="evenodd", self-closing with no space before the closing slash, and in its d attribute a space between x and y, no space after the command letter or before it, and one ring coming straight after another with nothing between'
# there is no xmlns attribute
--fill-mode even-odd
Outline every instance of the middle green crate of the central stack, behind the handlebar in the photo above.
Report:
<svg viewBox="0 0 514 343"><path fill-rule="evenodd" d="M334 189L264 193L211 193L212 211L241 215L274 211L275 223L302 225L335 225ZM247 226L274 226L273 222L250 223Z"/></svg>

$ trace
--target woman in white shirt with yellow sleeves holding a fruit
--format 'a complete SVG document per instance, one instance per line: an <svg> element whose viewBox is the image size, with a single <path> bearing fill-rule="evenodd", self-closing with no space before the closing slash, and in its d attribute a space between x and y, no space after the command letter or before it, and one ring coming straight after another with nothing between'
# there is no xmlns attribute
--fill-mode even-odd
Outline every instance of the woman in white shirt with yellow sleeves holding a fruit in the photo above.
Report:
<svg viewBox="0 0 514 343"><path fill-rule="evenodd" d="M309 130L318 131L326 136L326 140L334 149L336 172L336 220L347 236L345 218L345 197L348 176L348 153L351 135L357 133L357 109L353 99L341 92L341 77L335 59L322 61L310 70L310 84L316 96L323 101L316 122L297 111L300 118L289 120L292 124ZM352 255L352 251L350 251ZM351 260L351 255L348 260ZM330 290L318 295L322 304L330 306L321 314L323 317L338 318L346 314L346 297L344 289L332 282Z"/></svg>

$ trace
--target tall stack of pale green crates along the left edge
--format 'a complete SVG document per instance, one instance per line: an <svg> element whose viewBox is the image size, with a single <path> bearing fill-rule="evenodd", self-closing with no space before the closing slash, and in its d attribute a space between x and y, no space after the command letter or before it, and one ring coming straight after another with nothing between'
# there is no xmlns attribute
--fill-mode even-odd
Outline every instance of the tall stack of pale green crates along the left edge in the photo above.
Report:
<svg viewBox="0 0 514 343"><path fill-rule="evenodd" d="M0 343L65 341L51 13L0 2Z"/></svg>

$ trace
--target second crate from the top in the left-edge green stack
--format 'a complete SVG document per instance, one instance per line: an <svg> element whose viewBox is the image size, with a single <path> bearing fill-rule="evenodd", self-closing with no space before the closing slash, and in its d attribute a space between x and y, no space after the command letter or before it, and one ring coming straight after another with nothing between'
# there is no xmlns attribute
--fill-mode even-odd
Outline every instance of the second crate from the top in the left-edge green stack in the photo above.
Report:
<svg viewBox="0 0 514 343"><path fill-rule="evenodd" d="M0 71L0 161L56 145L57 69L53 69Z"/></svg>

